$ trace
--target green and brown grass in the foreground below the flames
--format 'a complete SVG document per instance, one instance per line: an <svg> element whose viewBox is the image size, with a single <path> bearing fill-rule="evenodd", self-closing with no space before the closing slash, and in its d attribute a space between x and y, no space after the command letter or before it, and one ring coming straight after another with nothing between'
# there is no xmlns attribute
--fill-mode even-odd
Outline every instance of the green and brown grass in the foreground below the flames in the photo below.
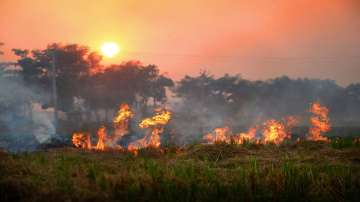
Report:
<svg viewBox="0 0 360 202"><path fill-rule="evenodd" d="M358 201L359 147L0 153L0 201Z"/></svg>

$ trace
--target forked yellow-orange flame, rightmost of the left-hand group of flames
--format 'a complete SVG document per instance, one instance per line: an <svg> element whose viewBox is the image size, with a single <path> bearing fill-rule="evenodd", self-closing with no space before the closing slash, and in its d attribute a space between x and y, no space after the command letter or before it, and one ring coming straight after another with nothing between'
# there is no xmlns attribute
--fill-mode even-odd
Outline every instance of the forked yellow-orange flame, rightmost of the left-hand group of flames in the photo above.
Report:
<svg viewBox="0 0 360 202"><path fill-rule="evenodd" d="M164 132L164 127L171 119L171 112L166 109L158 109L158 112L151 118L146 118L139 124L140 128L150 128L151 133L147 132L142 139L132 142L128 146L129 151L136 151L140 148L153 147L159 148L161 144L160 135Z"/></svg>

